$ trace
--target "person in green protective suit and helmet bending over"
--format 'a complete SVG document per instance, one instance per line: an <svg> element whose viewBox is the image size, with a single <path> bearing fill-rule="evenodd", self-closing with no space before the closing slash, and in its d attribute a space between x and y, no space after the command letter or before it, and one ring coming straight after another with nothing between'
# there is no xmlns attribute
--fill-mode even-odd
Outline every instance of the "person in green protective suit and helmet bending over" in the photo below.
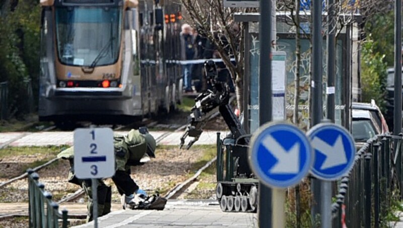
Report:
<svg viewBox="0 0 403 228"><path fill-rule="evenodd" d="M139 130L132 129L127 135L114 134L113 145L115 152L115 175L112 181L125 202L129 203L134 200L136 195L147 195L147 193L139 188L139 186L130 178L130 166L141 165L142 159L155 157L156 141L149 134L147 128ZM70 162L69 182L79 185L84 189L88 196L87 203L87 222L93 219L92 208L92 183L91 180L78 179L74 173L74 147L63 150L57 157L67 159ZM108 214L111 210L111 187L107 186L101 179L98 181L98 216Z"/></svg>

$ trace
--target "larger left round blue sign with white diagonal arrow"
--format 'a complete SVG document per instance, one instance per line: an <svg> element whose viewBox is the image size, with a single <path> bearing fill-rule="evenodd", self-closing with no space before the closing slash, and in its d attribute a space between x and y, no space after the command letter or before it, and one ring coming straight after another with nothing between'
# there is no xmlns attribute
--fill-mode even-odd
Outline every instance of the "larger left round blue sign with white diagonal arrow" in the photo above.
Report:
<svg viewBox="0 0 403 228"><path fill-rule="evenodd" d="M249 163L267 186L287 188L298 184L311 168L312 148L308 138L290 124L264 125L252 137Z"/></svg>

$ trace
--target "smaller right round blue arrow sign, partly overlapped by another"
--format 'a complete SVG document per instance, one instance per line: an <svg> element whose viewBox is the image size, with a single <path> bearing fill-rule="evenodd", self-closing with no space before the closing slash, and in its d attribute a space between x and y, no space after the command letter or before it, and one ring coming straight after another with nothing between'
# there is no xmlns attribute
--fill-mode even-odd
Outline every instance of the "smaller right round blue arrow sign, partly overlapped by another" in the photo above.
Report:
<svg viewBox="0 0 403 228"><path fill-rule="evenodd" d="M319 124L308 133L315 153L311 174L332 181L347 174L354 164L356 147L351 134L342 126Z"/></svg>

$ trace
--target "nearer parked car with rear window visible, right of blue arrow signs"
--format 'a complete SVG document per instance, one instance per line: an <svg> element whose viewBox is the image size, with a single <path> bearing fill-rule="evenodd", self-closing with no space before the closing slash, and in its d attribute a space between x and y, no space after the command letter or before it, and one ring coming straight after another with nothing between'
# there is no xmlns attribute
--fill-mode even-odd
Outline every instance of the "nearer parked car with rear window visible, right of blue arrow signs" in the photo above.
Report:
<svg viewBox="0 0 403 228"><path fill-rule="evenodd" d="M381 133L381 129L369 110L352 109L352 135L359 150L364 143Z"/></svg>

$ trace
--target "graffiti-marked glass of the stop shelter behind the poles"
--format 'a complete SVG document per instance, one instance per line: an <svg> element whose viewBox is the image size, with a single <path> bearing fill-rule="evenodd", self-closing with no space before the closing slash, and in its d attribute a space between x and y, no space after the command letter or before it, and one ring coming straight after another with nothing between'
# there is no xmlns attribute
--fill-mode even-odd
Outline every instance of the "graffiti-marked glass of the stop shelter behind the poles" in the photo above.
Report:
<svg viewBox="0 0 403 228"><path fill-rule="evenodd" d="M259 113L258 113L258 74L259 74L259 35L257 23L249 23L249 32L247 41L249 42L249 69L250 75L250 95L249 95L249 126L250 132L253 133L259 127ZM278 26L278 31L283 31L283 28ZM284 32L284 31L283 31ZM341 34L337 40L337 56L336 56L336 75L335 75L335 123L343 124L343 109L345 108L344 98L346 91L343 86L343 79L347 78L345 71L346 61L343 56L345 52L345 34ZM295 34L294 33L277 33L276 51L285 51L287 55L286 60L286 111L287 121L293 120L294 109L294 94L295 94L295 71L296 71L296 55L295 55ZM326 42L323 40L323 117L326 115L326 87L327 87L327 66L326 66ZM309 88L310 82L310 68L311 68L311 49L309 36L301 37L301 65L300 65L300 99L299 99L299 123L300 127L308 130L309 123Z"/></svg>

